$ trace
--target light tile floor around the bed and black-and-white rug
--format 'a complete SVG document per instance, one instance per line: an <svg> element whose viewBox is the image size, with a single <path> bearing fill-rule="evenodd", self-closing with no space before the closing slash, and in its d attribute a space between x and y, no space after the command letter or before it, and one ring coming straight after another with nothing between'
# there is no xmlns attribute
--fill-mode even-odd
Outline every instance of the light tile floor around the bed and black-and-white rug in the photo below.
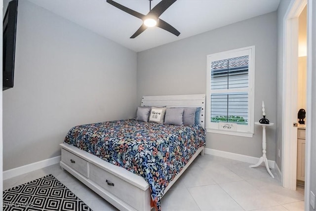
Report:
<svg viewBox="0 0 316 211"><path fill-rule="evenodd" d="M304 211L304 189L287 190L265 167L198 156L161 200L162 211ZM272 173L276 175L274 169ZM116 210L59 164L3 181L3 190L53 174L94 211Z"/></svg>

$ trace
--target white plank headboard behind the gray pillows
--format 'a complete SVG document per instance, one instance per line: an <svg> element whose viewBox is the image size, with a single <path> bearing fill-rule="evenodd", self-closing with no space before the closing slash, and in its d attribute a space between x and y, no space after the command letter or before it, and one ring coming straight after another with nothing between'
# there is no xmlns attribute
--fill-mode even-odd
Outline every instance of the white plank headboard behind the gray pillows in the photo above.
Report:
<svg viewBox="0 0 316 211"><path fill-rule="evenodd" d="M201 107L199 124L205 128L205 94L143 96L141 106Z"/></svg>

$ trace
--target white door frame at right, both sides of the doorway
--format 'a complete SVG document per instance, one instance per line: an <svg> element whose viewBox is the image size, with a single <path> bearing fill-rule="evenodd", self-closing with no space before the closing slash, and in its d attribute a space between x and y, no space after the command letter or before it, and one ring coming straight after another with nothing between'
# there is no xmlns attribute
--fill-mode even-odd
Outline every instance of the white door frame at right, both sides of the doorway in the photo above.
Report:
<svg viewBox="0 0 316 211"><path fill-rule="evenodd" d="M305 148L305 210L310 208L310 183L311 183L311 141L315 140L315 105L316 87L313 86L316 80L316 74L313 69L316 68L315 59L315 30L316 30L316 2L314 0L292 0L283 20L283 116L282 116L282 184L285 188L296 189L296 148L297 136L292 136L295 128L291 126L296 122L296 112L293 112L293 105L297 105L297 101L291 96L297 96L297 59L298 44L297 17L307 4L307 128L306 128L306 148ZM314 16L313 16L314 14ZM313 31L314 30L314 31ZM314 39L314 40L313 40ZM294 84L293 84L294 83ZM313 98L314 97L314 98ZM313 139L314 138L314 139Z"/></svg>

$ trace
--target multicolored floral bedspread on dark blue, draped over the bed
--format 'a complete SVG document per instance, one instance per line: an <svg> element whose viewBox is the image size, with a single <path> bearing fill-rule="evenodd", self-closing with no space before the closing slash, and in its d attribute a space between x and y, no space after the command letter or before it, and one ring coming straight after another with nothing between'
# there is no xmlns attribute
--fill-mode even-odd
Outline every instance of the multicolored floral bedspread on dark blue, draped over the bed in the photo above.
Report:
<svg viewBox="0 0 316 211"><path fill-rule="evenodd" d="M205 145L205 130L131 119L73 127L65 142L144 177L160 210L164 189Z"/></svg>

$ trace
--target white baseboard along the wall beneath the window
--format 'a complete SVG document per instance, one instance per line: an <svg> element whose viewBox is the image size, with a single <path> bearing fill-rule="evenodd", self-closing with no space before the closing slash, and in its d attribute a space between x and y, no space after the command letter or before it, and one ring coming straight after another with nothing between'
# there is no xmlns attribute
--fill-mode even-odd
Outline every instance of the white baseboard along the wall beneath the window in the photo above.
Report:
<svg viewBox="0 0 316 211"><path fill-rule="evenodd" d="M216 149L210 149L210 148L204 148L204 153L209 154L209 155L214 155L218 157L223 157L223 158L229 158L232 160L236 161L242 161L250 164L256 164L259 162L259 158L256 157L251 157L247 155L240 155L232 152L225 152L225 151L220 151ZM275 168L275 161L268 160L269 167L274 169Z"/></svg>

